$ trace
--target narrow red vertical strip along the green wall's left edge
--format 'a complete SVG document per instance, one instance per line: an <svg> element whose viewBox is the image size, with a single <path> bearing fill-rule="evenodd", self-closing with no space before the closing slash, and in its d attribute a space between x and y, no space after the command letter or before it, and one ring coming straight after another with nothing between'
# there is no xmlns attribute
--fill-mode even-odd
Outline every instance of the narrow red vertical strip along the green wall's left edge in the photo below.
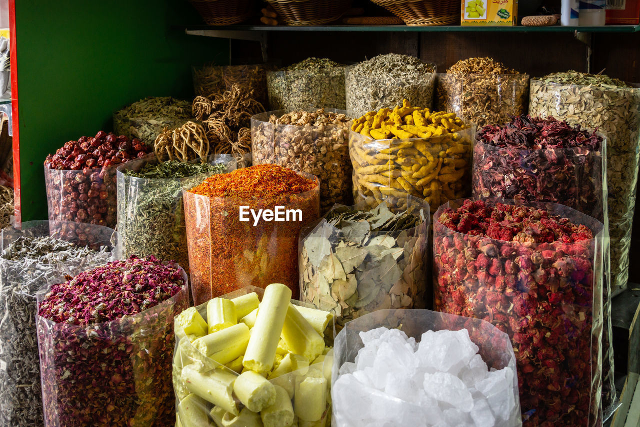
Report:
<svg viewBox="0 0 640 427"><path fill-rule="evenodd" d="M18 121L18 55L15 32L15 0L9 0L9 38L11 60L11 110L13 120L13 193L15 221L20 222L22 203L20 199L20 126Z"/></svg>

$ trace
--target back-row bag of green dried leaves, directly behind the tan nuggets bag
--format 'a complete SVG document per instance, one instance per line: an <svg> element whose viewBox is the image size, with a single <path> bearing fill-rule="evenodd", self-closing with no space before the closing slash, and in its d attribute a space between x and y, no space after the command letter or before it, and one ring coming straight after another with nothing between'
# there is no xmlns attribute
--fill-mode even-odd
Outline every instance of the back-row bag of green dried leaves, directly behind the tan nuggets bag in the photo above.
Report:
<svg viewBox="0 0 640 427"><path fill-rule="evenodd" d="M272 110L344 110L344 65L327 58L307 58L267 74Z"/></svg>

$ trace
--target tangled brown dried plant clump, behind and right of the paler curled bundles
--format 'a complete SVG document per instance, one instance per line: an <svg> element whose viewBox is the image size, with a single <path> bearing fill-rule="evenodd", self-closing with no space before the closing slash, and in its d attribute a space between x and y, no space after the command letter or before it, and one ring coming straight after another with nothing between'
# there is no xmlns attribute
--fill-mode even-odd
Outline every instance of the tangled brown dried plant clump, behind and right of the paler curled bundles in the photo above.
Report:
<svg viewBox="0 0 640 427"><path fill-rule="evenodd" d="M249 128L252 115L264 112L252 96L252 90L234 84L221 94L193 100L193 114L202 121L210 145L208 154L230 154L239 167L251 162L250 130L245 128Z"/></svg>

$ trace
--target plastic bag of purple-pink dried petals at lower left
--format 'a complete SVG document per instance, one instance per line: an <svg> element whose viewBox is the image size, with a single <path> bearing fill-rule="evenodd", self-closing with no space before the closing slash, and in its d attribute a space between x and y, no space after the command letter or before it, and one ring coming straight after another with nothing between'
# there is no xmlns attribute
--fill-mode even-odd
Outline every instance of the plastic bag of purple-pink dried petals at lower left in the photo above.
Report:
<svg viewBox="0 0 640 427"><path fill-rule="evenodd" d="M173 424L173 318L188 306L184 270L153 256L38 293L45 425Z"/></svg>

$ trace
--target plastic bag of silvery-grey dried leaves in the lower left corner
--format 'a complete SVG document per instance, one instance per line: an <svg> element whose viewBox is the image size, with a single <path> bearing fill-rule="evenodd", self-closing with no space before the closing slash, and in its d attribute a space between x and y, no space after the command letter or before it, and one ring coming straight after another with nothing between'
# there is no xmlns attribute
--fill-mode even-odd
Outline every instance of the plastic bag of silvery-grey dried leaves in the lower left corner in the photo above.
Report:
<svg viewBox="0 0 640 427"><path fill-rule="evenodd" d="M2 230L0 239L0 425L42 426L36 292L51 280L77 274L116 256L111 228L85 224L90 243L49 233L48 221Z"/></svg>

